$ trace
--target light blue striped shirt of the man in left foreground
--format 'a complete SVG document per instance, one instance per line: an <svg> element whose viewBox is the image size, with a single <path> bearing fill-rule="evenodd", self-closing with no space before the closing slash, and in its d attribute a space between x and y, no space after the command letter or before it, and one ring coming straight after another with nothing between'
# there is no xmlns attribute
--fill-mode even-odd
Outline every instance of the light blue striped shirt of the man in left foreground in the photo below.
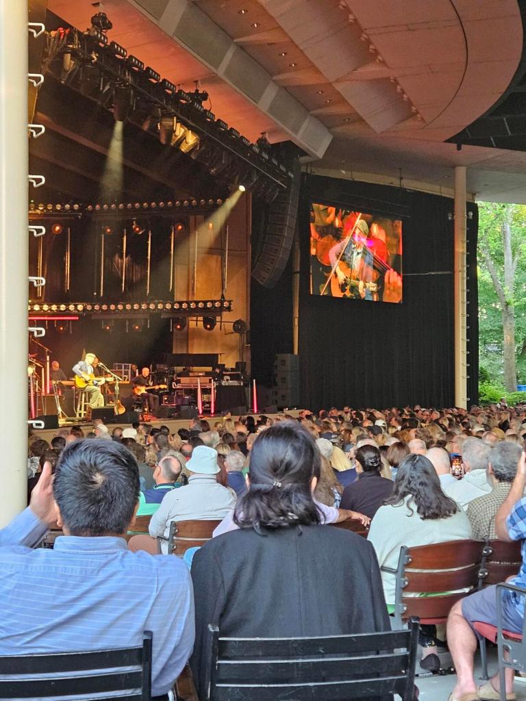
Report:
<svg viewBox="0 0 526 701"><path fill-rule="evenodd" d="M167 693L194 646L186 564L131 552L112 536L62 536L54 550L24 547L45 532L30 509L0 531L0 655L140 645L151 630L152 695Z"/></svg>

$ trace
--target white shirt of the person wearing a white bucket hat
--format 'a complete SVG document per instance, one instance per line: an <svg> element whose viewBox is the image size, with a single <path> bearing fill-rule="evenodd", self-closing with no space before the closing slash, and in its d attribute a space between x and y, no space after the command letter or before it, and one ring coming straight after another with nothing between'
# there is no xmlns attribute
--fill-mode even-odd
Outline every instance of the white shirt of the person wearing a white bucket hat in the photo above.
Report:
<svg viewBox="0 0 526 701"><path fill-rule="evenodd" d="M170 522L201 519L224 519L234 510L236 494L215 479L215 475L192 475L186 486L173 489L161 501L151 517L149 533L152 538L170 535ZM168 544L163 542L163 552Z"/></svg>

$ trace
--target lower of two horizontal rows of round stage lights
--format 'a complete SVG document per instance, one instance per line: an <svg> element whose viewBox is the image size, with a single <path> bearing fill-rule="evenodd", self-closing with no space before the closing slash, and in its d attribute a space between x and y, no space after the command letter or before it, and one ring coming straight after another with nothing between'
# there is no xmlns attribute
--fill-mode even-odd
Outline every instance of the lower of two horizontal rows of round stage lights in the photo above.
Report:
<svg viewBox="0 0 526 701"><path fill-rule="evenodd" d="M28 306L28 311L33 312L76 312L90 313L98 311L196 311L196 310L214 310L214 311L231 311L232 302L229 299L208 299L208 300L189 300L177 302L119 302L119 304L34 304Z"/></svg>

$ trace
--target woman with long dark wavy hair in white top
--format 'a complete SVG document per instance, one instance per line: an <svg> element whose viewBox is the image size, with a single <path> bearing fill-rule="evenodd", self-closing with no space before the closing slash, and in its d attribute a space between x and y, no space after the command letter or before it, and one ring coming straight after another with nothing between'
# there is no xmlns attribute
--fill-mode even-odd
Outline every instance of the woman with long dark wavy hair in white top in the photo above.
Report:
<svg viewBox="0 0 526 701"><path fill-rule="evenodd" d="M440 488L431 461L410 455L400 463L394 491L371 521L368 540L375 547L380 568L396 571L400 547L433 545L447 540L471 538L471 526L464 511ZM388 606L395 603L396 574L382 570L382 584ZM420 644L424 669L438 672L436 628L422 626Z"/></svg>

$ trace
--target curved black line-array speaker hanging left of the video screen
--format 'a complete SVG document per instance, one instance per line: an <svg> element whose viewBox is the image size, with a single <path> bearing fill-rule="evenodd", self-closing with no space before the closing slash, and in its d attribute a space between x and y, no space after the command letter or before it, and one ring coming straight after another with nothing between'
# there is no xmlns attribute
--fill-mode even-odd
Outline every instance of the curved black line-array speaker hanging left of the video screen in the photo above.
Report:
<svg viewBox="0 0 526 701"><path fill-rule="evenodd" d="M294 176L267 210L267 226L257 245L252 277L263 287L274 287L285 270L292 249L299 204L301 168L298 158L290 164Z"/></svg>

